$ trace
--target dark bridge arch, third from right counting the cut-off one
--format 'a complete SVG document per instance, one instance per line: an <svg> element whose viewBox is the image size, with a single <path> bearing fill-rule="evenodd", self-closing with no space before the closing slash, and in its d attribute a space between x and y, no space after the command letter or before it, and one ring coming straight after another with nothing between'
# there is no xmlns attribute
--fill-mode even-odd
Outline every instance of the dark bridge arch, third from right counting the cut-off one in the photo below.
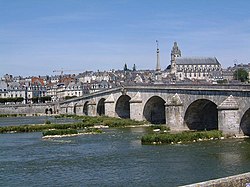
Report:
<svg viewBox="0 0 250 187"><path fill-rule="evenodd" d="M166 124L165 100L159 96L149 98L144 106L143 116L153 124Z"/></svg>

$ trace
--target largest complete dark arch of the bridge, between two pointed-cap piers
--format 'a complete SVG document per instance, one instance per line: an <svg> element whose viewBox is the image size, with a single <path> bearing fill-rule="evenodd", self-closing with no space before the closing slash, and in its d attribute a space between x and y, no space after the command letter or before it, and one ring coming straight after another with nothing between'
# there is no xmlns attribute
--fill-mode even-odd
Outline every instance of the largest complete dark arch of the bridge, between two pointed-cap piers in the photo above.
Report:
<svg viewBox="0 0 250 187"><path fill-rule="evenodd" d="M185 112L184 123L190 130L218 129L217 105L208 99L195 100Z"/></svg>

